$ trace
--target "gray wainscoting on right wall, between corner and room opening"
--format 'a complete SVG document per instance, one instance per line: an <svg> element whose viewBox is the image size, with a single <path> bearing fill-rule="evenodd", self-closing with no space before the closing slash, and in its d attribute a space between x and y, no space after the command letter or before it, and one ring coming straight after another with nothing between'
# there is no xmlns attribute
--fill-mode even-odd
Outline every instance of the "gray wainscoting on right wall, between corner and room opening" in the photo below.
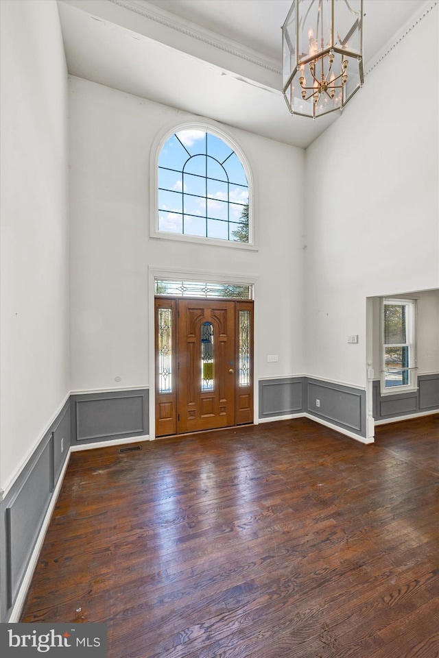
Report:
<svg viewBox="0 0 439 658"><path fill-rule="evenodd" d="M311 415L366 436L366 391L308 379L307 398L307 411Z"/></svg>

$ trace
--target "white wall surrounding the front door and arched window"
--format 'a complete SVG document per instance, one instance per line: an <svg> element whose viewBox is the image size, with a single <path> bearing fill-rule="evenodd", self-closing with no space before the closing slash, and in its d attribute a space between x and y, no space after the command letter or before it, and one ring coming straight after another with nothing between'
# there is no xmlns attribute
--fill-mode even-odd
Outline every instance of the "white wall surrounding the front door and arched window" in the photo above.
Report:
<svg viewBox="0 0 439 658"><path fill-rule="evenodd" d="M71 78L71 389L149 385L148 266L258 278L259 376L300 374L304 152L223 126L250 162L259 250L150 239L150 151L200 117ZM278 354L278 363L267 363ZM121 382L115 382L121 377Z"/></svg>

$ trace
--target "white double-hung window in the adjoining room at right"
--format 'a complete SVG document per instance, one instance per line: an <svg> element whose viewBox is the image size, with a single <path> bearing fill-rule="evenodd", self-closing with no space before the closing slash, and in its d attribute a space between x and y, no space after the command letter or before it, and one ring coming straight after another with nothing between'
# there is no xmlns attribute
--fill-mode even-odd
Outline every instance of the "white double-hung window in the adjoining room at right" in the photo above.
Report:
<svg viewBox="0 0 439 658"><path fill-rule="evenodd" d="M416 302L381 304L381 394L416 389Z"/></svg>

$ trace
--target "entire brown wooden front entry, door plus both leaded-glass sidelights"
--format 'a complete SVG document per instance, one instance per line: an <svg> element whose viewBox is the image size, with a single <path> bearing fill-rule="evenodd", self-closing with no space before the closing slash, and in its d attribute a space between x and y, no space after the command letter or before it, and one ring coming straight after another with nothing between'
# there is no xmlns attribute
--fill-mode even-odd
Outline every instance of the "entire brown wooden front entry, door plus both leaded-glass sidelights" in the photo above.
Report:
<svg viewBox="0 0 439 658"><path fill-rule="evenodd" d="M253 303L156 297L156 436L253 422Z"/></svg>

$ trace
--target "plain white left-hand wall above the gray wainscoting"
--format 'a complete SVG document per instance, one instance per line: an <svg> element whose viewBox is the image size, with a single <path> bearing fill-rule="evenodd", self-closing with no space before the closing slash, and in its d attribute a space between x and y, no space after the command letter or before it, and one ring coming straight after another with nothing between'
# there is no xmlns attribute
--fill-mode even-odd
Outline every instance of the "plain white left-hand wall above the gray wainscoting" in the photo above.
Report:
<svg viewBox="0 0 439 658"><path fill-rule="evenodd" d="M67 67L55 1L1 5L1 486L69 393Z"/></svg>

